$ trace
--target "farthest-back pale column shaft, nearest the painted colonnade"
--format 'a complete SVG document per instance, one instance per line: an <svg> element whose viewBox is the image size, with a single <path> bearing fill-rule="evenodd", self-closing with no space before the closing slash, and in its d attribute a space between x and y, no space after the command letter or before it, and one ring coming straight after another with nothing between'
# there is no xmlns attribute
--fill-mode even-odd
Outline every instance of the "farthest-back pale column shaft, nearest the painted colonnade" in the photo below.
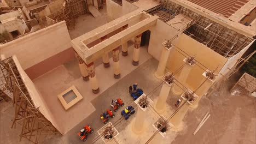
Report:
<svg viewBox="0 0 256 144"><path fill-rule="evenodd" d="M155 76L158 79L161 79L162 76L164 76L164 74L165 74L165 67L166 67L166 63L167 63L168 57L170 55L171 49L172 49L172 47L167 48L165 45L162 48L162 54L161 54L160 61L158 64L158 70L156 70L156 72L155 72Z"/></svg>

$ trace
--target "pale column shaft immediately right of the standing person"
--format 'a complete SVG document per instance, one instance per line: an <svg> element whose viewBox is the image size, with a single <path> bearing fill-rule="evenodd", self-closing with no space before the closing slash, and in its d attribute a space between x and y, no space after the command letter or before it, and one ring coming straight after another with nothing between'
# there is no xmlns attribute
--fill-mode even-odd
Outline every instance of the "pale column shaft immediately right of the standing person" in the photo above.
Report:
<svg viewBox="0 0 256 144"><path fill-rule="evenodd" d="M183 103L185 104L183 105ZM183 99L182 103L179 106L182 106L181 109L179 109L178 112L170 119L170 122L173 124L174 129L179 128L179 126L181 125L182 119L184 118L187 111L189 110L190 104Z"/></svg>

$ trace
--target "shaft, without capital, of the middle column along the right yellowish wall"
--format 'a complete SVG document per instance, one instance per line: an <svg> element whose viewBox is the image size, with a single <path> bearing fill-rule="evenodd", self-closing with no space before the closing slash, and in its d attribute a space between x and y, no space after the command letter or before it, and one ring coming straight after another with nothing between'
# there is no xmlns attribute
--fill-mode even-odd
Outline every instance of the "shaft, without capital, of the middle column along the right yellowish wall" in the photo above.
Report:
<svg viewBox="0 0 256 144"><path fill-rule="evenodd" d="M181 74L179 74L179 77L177 80L180 83L182 83L182 85L185 85L192 67L193 65L186 63L183 69L181 70ZM184 93L183 89L181 89L177 84L174 84L174 86L172 87L172 92L173 94L176 94L176 95L181 95L182 93Z"/></svg>

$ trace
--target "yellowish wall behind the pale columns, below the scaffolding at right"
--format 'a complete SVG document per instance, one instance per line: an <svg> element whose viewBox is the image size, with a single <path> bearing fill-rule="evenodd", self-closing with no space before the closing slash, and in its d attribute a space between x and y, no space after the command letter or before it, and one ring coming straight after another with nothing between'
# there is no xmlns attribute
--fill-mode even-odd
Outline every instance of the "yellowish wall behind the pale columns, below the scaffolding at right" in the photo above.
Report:
<svg viewBox="0 0 256 144"><path fill-rule="evenodd" d="M219 71L223 68L224 64L228 60L227 58L224 58L223 56L219 55L218 53L214 52L205 45L197 42L196 40L190 38L188 35L185 34L181 34L178 38L177 44L174 43L174 45L179 47L179 49L181 49L185 53L188 53L188 55L195 56L196 61L200 62L206 68L210 70L214 70L217 68L215 72L216 74L219 73ZM185 58L185 56L178 52L181 52L181 50L176 49L170 52L166 67L168 70L170 70L171 73L176 71L184 64L183 59ZM201 64L199 64L200 67L206 69ZM199 87L201 81L205 79L205 77L202 76L205 70L201 69L200 67L197 65L193 66L189 73L187 82L185 83L185 86L187 86L192 91ZM179 71L179 73L180 72L181 71ZM176 77L178 77L179 73L177 73ZM202 95L201 93L196 94Z"/></svg>

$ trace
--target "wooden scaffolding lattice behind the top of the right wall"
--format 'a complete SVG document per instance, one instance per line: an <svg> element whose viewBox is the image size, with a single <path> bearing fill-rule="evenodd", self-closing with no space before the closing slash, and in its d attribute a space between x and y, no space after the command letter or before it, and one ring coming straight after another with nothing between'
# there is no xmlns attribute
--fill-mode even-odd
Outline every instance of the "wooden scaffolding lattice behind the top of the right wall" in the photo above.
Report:
<svg viewBox="0 0 256 144"><path fill-rule="evenodd" d="M184 33L226 58L236 55L253 41L252 38L232 31L171 1L162 0L159 5L147 10L147 13L158 15L164 22L170 21L178 14L190 17L193 22Z"/></svg>

